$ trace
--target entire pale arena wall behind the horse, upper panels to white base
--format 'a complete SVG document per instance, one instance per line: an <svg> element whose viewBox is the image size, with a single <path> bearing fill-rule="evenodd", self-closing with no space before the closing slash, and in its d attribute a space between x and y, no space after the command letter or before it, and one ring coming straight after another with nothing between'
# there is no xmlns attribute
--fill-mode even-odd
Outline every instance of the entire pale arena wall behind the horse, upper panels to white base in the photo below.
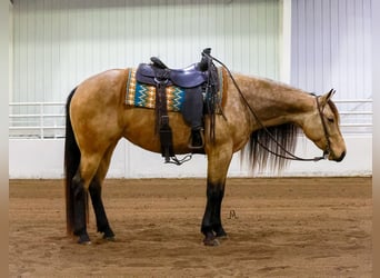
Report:
<svg viewBox="0 0 380 278"><path fill-rule="evenodd" d="M184 67L199 60L204 47L233 71L317 93L337 90L347 158L341 163L292 162L281 175L371 175L370 7L364 0L14 0L9 176L62 177L62 103L84 78L134 67L150 56ZM51 118L42 123L47 115ZM49 132L41 135L43 125ZM301 140L299 155L320 155ZM204 177L206 160L194 156L182 167L163 165L160 155L120 141L109 177ZM237 155L230 176L248 176L239 161ZM272 173L259 173L268 175Z"/></svg>

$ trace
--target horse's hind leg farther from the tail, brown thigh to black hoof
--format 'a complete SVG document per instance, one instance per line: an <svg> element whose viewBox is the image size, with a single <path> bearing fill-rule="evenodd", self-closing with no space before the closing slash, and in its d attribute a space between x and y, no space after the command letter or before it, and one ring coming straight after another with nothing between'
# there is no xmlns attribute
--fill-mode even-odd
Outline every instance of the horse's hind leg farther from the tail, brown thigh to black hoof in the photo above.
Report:
<svg viewBox="0 0 380 278"><path fill-rule="evenodd" d="M97 175L93 177L89 187L92 207L93 207L93 211L94 211L96 219L97 219L98 231L102 232L103 238L108 240L112 240L114 238L114 234L108 222L108 218L106 215L103 201L101 198L101 186L106 178L114 147L116 147L116 143L112 145L109 148L109 150L106 152L98 168Z"/></svg>

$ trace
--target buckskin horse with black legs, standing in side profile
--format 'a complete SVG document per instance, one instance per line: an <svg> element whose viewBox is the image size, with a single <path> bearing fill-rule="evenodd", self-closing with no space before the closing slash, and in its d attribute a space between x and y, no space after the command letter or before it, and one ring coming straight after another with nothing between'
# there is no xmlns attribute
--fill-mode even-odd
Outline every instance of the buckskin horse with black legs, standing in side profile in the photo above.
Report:
<svg viewBox="0 0 380 278"><path fill-rule="evenodd" d="M102 182L112 152L121 138L142 149L161 152L154 130L153 109L126 103L126 88L132 69L113 69L82 81L67 100L64 142L67 232L80 244L90 244L87 232L90 195L97 229L104 239L114 234L101 198ZM221 222L221 203L232 155L242 151L247 162L281 169L297 143L298 129L323 151L324 158L341 161L346 143L339 113L331 101L333 91L316 96L273 80L234 73L222 68L222 113L212 120L204 115L204 146L208 159L207 203L201 232L207 246L227 236ZM187 73L184 70L177 73ZM168 111L176 155L192 152L191 128L180 112ZM211 125L213 121L213 125ZM211 135L211 130L213 129ZM199 152L199 151L198 151ZM272 153L279 153L273 156ZM89 192L89 193L88 193Z"/></svg>

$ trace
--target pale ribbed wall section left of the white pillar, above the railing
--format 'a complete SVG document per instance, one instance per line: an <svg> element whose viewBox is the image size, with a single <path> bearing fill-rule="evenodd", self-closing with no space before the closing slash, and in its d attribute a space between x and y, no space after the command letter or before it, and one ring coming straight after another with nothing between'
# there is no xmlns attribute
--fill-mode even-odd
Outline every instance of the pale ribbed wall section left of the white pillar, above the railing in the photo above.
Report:
<svg viewBox="0 0 380 278"><path fill-rule="evenodd" d="M13 101L64 101L100 71L151 56L181 68L206 47L234 71L279 78L278 0L14 0L13 13Z"/></svg>

